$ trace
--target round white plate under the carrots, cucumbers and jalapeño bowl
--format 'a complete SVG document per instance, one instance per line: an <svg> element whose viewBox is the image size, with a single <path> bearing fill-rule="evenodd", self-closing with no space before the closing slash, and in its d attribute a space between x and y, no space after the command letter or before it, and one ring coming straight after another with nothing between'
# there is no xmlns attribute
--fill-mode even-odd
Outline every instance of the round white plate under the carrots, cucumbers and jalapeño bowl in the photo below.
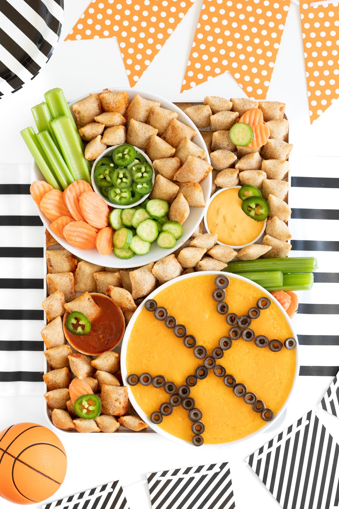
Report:
<svg viewBox="0 0 339 509"><path fill-rule="evenodd" d="M106 92L108 89L105 90L97 90L93 92L94 94L101 94L102 92ZM175 106L172 102L168 101L164 97L156 96L153 94L150 94L148 92L144 92L143 90L136 90L136 89L128 89L128 88L111 88L109 89L111 92L128 92L130 102L132 101L133 97L136 94L141 95L145 99L151 99L153 101L159 101L161 106L163 108L170 109L171 111L175 111L178 114L178 120L180 122L183 122L184 124L188 125L189 127L192 127L192 129L195 129L197 131L197 134L193 138L193 142L198 145L201 149L203 149L206 152L206 161L210 162L208 150L206 148L205 142L197 129L197 127L194 125L192 120L184 114L184 112ZM89 93L88 93L89 94ZM88 94L85 94L82 97L79 97L72 103L70 103L70 107L78 101L82 101L82 99L85 99L88 97ZM40 172L40 169L38 168L38 165L35 161L32 163L32 171L31 171L31 182L34 182L35 180L45 180L42 173ZM203 193L204 193L204 199L205 203L208 203L209 196L211 193L211 185L212 185L212 175L211 173L208 174L208 176L200 183ZM151 245L151 248L147 254L144 254L143 256L135 254L133 258L130 258L129 260L121 260L120 258L117 258L113 253L108 254L107 256L104 256L103 254L100 254L99 251L95 249L79 249L77 247L72 246L69 244L65 239L61 239L58 235L55 235L50 230L50 223L51 221L45 216L45 214L42 213L38 205L36 205L37 211L39 213L39 216L42 220L42 222L45 224L47 230L50 232L50 234L58 241L58 243L71 251L76 257L82 258L83 260L86 260L87 262L94 263L96 265L103 265L104 267L116 267L119 269L127 269L132 267L139 267L140 265L147 265L150 262L156 262L160 260L161 258L164 258L168 256L168 254L171 254L175 249L177 249L183 242L186 242L194 232L194 230L198 227L198 224L203 218L204 215L204 208L199 207L191 207L190 208L190 215L186 219L186 221L183 224L183 235L182 237L176 242L175 246L172 249L162 249L157 245L157 243L153 243Z"/></svg>

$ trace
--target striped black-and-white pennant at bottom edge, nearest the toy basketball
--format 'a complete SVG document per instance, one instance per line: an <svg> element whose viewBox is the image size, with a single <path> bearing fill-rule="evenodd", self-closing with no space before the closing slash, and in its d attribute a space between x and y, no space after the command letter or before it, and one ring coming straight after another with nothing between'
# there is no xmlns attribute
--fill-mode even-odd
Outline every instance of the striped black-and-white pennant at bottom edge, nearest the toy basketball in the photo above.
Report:
<svg viewBox="0 0 339 509"><path fill-rule="evenodd" d="M54 507L58 509L129 509L124 490L118 480L42 506L43 509L54 509Z"/></svg>

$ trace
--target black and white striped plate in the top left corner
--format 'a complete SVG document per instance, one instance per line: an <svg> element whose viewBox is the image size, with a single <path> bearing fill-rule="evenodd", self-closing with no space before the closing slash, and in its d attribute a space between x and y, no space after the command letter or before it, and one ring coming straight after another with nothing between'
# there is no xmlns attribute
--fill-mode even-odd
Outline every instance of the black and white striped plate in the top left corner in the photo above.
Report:
<svg viewBox="0 0 339 509"><path fill-rule="evenodd" d="M0 98L20 90L50 59L64 0L0 0Z"/></svg>

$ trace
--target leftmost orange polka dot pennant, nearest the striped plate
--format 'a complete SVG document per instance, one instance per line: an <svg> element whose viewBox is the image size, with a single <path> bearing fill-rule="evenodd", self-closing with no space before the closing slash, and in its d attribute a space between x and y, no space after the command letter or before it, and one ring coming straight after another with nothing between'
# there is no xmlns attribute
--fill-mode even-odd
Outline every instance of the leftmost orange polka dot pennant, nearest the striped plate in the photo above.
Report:
<svg viewBox="0 0 339 509"><path fill-rule="evenodd" d="M65 40L116 37L133 87L194 1L92 0Z"/></svg>

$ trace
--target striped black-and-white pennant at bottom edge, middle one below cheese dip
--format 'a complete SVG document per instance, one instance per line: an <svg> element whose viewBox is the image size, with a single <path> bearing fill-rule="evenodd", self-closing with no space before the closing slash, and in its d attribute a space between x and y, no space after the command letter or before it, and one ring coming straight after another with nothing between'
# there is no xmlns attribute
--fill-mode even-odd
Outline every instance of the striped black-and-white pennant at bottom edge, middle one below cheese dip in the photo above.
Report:
<svg viewBox="0 0 339 509"><path fill-rule="evenodd" d="M234 509L228 463L147 474L152 509Z"/></svg>

